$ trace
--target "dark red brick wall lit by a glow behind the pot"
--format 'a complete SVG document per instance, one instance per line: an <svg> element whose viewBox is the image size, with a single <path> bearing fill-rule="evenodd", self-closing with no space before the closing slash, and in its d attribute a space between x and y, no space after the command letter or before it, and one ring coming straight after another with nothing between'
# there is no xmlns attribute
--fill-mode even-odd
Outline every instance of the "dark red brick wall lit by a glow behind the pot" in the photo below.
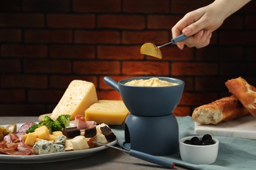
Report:
<svg viewBox="0 0 256 170"><path fill-rule="evenodd" d="M228 95L224 82L243 76L256 85L256 1L228 18L202 49L161 48L142 56L144 42L163 44L171 27L205 0L1 0L0 116L53 110L74 79L93 82L99 99L120 99L106 86L131 76L186 82L177 115Z"/></svg>

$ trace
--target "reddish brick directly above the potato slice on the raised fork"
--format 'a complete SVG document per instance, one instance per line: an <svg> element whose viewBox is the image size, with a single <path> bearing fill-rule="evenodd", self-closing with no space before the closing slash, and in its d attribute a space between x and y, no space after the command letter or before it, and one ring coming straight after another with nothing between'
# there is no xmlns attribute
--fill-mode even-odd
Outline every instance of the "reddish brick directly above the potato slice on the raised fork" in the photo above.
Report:
<svg viewBox="0 0 256 170"><path fill-rule="evenodd" d="M143 44L152 42L156 45L169 42L168 31L123 31L123 44Z"/></svg>

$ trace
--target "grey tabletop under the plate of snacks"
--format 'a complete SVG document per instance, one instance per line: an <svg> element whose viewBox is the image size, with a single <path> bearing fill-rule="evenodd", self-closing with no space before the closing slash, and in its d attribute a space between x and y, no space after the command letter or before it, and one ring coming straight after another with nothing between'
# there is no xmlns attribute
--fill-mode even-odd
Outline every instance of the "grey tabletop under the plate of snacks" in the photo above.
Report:
<svg viewBox="0 0 256 170"><path fill-rule="evenodd" d="M37 122L38 117L6 117L0 116L0 125ZM166 169L154 163L140 160L129 154L107 148L90 156L70 161L56 161L51 163L0 163L0 169ZM173 169L184 169L175 166Z"/></svg>

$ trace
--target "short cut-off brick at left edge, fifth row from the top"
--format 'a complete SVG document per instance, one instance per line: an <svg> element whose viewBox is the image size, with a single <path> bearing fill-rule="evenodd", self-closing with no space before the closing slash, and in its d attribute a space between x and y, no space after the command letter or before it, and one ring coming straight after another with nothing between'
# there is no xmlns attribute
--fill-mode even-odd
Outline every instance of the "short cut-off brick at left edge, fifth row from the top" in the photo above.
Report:
<svg viewBox="0 0 256 170"><path fill-rule="evenodd" d="M21 62L18 59L0 60L0 73L19 73L21 69Z"/></svg>

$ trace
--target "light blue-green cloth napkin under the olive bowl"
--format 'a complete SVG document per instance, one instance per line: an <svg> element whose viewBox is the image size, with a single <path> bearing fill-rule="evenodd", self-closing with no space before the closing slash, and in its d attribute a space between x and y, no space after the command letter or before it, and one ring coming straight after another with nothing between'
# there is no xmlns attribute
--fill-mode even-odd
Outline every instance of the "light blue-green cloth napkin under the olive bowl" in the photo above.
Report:
<svg viewBox="0 0 256 170"><path fill-rule="evenodd" d="M194 135L194 122L191 116L177 117L179 137ZM113 126L118 137L118 144L125 141L123 126ZM180 153L161 156L170 159L176 165L189 169L256 169L256 141L234 137L215 137L219 140L219 153L215 163L211 165L195 165L181 160ZM205 153L207 154L207 153Z"/></svg>

